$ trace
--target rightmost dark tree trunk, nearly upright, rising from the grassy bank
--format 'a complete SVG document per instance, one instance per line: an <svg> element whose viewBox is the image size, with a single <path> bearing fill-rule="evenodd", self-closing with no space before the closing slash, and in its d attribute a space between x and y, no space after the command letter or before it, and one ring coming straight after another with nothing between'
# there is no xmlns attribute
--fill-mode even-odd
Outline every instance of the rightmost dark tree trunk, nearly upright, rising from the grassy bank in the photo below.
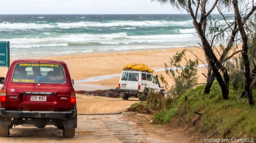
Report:
<svg viewBox="0 0 256 143"><path fill-rule="evenodd" d="M238 8L238 2L237 0L233 0L233 6L234 6L234 15L236 18L236 23L238 26L238 29L240 31L243 45L242 45L242 58L245 63L245 95L247 97L248 104L254 104L253 96L252 96L252 89L251 89L251 77L250 77L250 62L248 60L248 42L247 42L247 36L244 29L244 24L241 20L241 15Z"/></svg>

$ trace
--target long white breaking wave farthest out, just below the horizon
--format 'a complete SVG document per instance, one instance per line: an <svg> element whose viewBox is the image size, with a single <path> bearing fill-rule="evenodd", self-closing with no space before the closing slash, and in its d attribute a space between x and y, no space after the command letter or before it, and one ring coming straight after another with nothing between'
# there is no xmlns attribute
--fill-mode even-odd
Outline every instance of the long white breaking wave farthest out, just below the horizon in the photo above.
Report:
<svg viewBox="0 0 256 143"><path fill-rule="evenodd" d="M0 23L0 31L5 30L18 30L18 29L51 29L51 28L82 28L82 27L167 27L167 26L184 26L192 27L192 21L165 21L165 20L155 20L155 21L108 21L108 22L97 22L97 21L80 21L71 23ZM125 28L124 28L125 29ZM126 28L129 29L129 28Z"/></svg>

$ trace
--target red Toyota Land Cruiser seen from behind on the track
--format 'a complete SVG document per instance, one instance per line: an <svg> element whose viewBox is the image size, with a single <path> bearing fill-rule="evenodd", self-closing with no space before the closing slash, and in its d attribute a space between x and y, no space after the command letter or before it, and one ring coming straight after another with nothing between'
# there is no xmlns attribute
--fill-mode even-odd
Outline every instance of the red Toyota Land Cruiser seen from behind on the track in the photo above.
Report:
<svg viewBox="0 0 256 143"><path fill-rule="evenodd" d="M77 128L76 94L63 61L16 60L0 92L0 137L13 125L55 125L72 138Z"/></svg>

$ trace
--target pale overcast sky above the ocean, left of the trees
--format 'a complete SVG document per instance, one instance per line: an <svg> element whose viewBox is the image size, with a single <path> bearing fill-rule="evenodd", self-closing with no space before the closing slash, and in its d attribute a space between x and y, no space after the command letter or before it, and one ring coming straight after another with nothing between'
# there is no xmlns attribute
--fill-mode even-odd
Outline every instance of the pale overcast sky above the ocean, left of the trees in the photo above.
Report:
<svg viewBox="0 0 256 143"><path fill-rule="evenodd" d="M0 14L179 14L151 0L0 0Z"/></svg>

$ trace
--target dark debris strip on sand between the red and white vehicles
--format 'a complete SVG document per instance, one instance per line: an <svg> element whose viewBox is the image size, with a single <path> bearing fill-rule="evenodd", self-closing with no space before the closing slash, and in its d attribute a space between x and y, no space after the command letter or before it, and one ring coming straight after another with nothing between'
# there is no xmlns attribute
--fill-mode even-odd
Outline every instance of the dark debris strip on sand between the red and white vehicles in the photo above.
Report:
<svg viewBox="0 0 256 143"><path fill-rule="evenodd" d="M89 94L94 96L104 96L104 97L112 97L117 98L120 97L119 88L110 89L110 90L96 90L96 91L76 91L77 94Z"/></svg>

